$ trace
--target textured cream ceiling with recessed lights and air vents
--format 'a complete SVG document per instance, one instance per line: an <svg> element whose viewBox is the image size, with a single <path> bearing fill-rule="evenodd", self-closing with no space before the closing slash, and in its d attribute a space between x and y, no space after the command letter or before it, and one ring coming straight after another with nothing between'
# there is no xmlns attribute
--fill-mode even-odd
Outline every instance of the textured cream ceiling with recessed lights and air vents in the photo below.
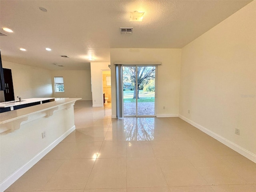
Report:
<svg viewBox="0 0 256 192"><path fill-rule="evenodd" d="M0 32L8 34L0 36L2 60L50 70L86 70L90 56L94 62L110 62L110 48L182 48L249 2L1 0ZM129 21L134 11L145 12L142 22ZM120 27L133 27L133 34L120 34Z"/></svg>

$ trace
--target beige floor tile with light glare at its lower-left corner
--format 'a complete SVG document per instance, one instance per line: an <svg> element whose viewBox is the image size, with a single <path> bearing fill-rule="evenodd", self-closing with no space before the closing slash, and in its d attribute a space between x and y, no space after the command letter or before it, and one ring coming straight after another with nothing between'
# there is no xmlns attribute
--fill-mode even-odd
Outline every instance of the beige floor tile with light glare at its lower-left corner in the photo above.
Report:
<svg viewBox="0 0 256 192"><path fill-rule="evenodd" d="M126 158L126 142L103 142L98 158Z"/></svg>

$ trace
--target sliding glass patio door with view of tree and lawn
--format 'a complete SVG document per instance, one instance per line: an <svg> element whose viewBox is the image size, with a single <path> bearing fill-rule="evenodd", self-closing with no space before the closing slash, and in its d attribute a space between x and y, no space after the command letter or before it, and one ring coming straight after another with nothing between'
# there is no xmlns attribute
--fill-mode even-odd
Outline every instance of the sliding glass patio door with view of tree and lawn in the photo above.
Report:
<svg viewBox="0 0 256 192"><path fill-rule="evenodd" d="M156 66L122 66L123 116L155 116Z"/></svg>

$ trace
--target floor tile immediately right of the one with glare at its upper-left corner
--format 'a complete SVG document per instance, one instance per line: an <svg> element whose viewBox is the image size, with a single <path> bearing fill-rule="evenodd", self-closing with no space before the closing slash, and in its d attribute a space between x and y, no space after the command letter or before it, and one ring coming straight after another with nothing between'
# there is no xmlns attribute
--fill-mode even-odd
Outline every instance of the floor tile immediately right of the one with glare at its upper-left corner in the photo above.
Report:
<svg viewBox="0 0 256 192"><path fill-rule="evenodd" d="M156 158L127 158L127 187L165 187L166 180Z"/></svg>

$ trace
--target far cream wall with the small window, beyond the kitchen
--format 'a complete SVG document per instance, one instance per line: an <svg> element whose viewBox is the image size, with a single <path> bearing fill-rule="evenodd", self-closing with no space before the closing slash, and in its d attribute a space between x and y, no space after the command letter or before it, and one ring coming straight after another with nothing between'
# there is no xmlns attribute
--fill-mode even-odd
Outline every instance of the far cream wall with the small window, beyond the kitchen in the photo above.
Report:
<svg viewBox="0 0 256 192"><path fill-rule="evenodd" d="M92 100L91 74L90 70L53 70L52 88L53 96L56 98L82 98L82 100ZM64 91L56 93L54 90L54 77L63 77Z"/></svg>

